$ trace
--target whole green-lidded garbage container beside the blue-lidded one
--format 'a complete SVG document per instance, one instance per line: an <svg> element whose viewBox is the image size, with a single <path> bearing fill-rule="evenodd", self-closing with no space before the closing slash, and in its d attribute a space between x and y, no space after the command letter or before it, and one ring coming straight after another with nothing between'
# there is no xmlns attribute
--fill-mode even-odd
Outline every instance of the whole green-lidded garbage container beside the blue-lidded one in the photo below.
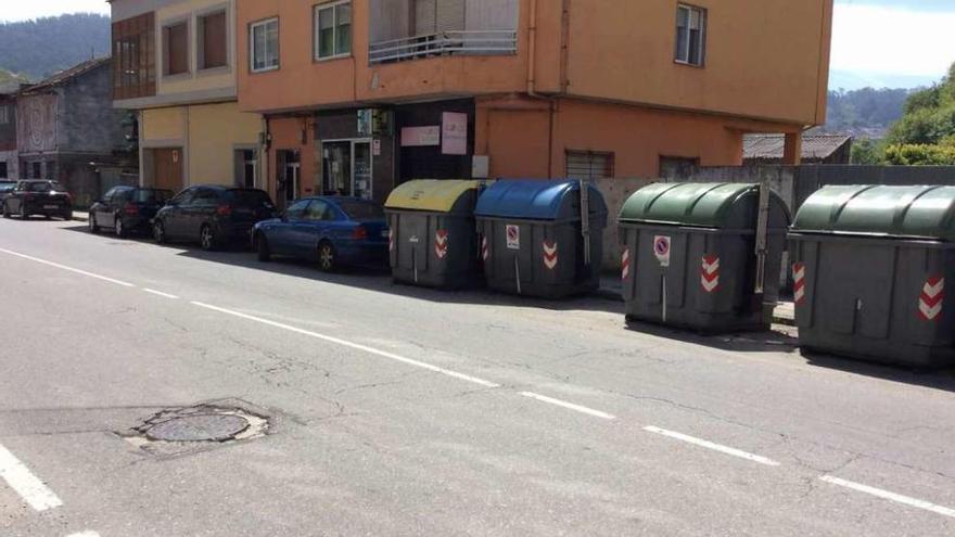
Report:
<svg viewBox="0 0 955 537"><path fill-rule="evenodd" d="M627 320L700 332L767 329L789 209L768 188L657 183L620 214Z"/></svg>

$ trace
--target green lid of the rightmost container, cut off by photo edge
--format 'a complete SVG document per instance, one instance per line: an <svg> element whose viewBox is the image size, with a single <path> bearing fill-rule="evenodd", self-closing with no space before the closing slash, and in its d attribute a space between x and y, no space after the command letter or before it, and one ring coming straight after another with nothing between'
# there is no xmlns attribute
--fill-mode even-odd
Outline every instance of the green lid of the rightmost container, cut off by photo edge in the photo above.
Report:
<svg viewBox="0 0 955 537"><path fill-rule="evenodd" d="M824 187L792 231L955 241L955 187Z"/></svg>

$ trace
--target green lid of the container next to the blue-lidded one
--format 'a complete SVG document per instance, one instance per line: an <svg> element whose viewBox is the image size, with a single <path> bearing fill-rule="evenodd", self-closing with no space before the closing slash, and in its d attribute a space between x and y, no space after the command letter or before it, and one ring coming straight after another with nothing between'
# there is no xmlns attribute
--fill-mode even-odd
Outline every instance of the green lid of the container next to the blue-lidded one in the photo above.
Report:
<svg viewBox="0 0 955 537"><path fill-rule="evenodd" d="M620 220L727 228L735 223L738 204L759 189L755 183L654 183L624 203Z"/></svg>

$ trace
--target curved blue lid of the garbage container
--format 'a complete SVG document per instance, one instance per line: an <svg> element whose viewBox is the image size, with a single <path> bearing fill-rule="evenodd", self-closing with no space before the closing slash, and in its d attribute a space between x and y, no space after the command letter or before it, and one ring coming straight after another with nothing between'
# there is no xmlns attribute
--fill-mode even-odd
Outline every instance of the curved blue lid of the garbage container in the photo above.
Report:
<svg viewBox="0 0 955 537"><path fill-rule="evenodd" d="M580 218L572 213L572 203L580 191L581 183L574 180L504 179L481 194L474 214L525 220ZM590 212L606 215L603 195L594 184L589 184L589 192Z"/></svg>

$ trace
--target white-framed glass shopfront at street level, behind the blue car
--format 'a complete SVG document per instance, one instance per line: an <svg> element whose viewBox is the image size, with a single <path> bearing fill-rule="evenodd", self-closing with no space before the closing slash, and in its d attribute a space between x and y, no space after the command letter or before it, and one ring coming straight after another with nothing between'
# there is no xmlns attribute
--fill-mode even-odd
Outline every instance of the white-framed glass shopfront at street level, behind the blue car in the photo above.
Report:
<svg viewBox="0 0 955 537"><path fill-rule="evenodd" d="M329 140L322 148L322 192L371 200L371 140Z"/></svg>

